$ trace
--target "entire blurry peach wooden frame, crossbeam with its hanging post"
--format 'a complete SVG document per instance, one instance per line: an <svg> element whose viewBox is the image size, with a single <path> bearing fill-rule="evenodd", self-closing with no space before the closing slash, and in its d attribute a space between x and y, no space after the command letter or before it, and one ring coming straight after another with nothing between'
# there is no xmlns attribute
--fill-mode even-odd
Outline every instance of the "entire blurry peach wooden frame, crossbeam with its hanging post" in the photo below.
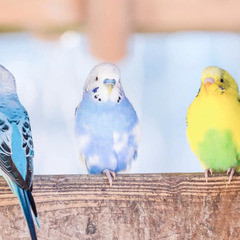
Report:
<svg viewBox="0 0 240 240"><path fill-rule="evenodd" d="M119 61L131 32L239 32L239 9L238 0L9 0L0 1L0 31L85 30L96 58Z"/></svg>

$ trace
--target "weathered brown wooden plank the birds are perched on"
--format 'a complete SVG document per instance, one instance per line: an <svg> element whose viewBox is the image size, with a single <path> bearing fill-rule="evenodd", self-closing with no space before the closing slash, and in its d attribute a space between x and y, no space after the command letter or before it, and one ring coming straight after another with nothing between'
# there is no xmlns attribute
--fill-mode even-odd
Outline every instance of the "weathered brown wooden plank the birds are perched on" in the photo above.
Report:
<svg viewBox="0 0 240 240"><path fill-rule="evenodd" d="M240 176L204 174L35 176L38 239L239 239ZM0 239L29 239L20 206L0 178Z"/></svg>

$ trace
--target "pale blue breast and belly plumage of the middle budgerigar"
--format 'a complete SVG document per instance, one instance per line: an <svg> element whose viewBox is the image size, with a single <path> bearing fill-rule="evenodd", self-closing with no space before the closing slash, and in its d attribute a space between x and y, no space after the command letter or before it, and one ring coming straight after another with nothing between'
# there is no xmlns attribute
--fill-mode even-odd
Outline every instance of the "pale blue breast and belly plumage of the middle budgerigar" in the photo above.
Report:
<svg viewBox="0 0 240 240"><path fill-rule="evenodd" d="M101 173L104 169L115 172L125 170L136 157L137 146L131 132L138 124L138 118L125 96L119 104L110 101L98 104L91 94L85 93L76 114L76 122L77 135L90 136L90 143L82 154L91 174ZM120 136L128 134L126 146L119 153L113 151L114 132ZM92 165L90 162L93 155L99 160Z"/></svg>

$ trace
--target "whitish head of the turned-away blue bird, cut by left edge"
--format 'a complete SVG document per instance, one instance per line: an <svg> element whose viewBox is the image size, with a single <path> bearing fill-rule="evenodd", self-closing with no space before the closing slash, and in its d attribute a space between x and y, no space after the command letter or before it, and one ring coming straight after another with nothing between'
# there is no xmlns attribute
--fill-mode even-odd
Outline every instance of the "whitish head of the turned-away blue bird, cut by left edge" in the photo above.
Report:
<svg viewBox="0 0 240 240"><path fill-rule="evenodd" d="M5 67L0 65L0 93L16 94L15 78Z"/></svg>

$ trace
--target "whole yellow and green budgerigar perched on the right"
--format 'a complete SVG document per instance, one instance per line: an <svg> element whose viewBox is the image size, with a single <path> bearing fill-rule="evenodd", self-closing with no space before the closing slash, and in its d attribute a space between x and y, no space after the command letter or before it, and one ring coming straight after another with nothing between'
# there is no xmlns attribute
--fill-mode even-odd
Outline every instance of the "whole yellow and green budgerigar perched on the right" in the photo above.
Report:
<svg viewBox="0 0 240 240"><path fill-rule="evenodd" d="M227 172L229 181L240 165L240 97L234 78L216 66L205 68L201 87L187 111L190 147L209 173Z"/></svg>

